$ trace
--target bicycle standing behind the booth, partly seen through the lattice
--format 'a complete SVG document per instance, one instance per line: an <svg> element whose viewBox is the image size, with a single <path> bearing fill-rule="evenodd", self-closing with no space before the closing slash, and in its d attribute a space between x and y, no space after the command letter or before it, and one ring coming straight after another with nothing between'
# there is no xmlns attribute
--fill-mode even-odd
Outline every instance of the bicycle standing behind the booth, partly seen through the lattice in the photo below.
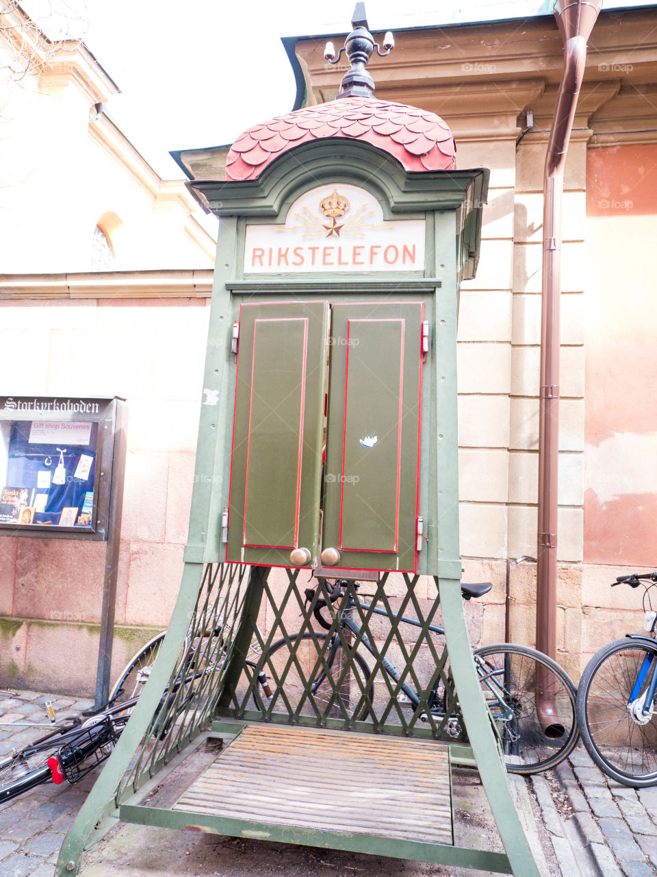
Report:
<svg viewBox="0 0 657 877"><path fill-rule="evenodd" d="M345 635L350 635L364 650L377 660L378 667L385 671L392 681L398 684L409 709L420 709L420 696L406 681L399 685L399 672L385 655L378 652L367 634L358 623L353 610L386 616L389 613L371 602L357 599L358 583L349 588L348 581L337 580L332 588L320 580L317 592L307 588L307 601L314 602L313 614L325 631L304 631L290 634L272 643L258 663L258 669L268 667L271 679L272 697L280 698L293 714L313 716L314 703L330 709L331 704L340 702L348 705L350 717L363 721L373 709L374 678L371 669L359 651L345 653ZM327 598L319 596L319 588L327 588ZM490 582L483 584L463 584L464 600L476 599L488 593ZM346 589L346 590L345 590ZM322 616L322 610L330 610L332 604L342 600L337 620L329 624ZM392 622L420 627L420 621L403 615L393 616ZM336 624L343 631L341 637ZM429 624L428 631L442 636L444 629ZM319 645L319 652L317 645ZM291 652L290 646L293 649ZM525 645L503 643L487 645L473 651L475 667L484 700L498 729L499 738L505 753L507 769L516 774L533 774L548 770L565 759L573 750L578 738L576 724L576 688L562 667L547 655ZM345 672L348 657L353 661L350 672ZM537 687L543 694L538 704L535 692ZM312 695L311 698L308 693ZM428 697L425 694L427 709L432 716L447 717L449 694L441 684L440 674L434 673L434 681ZM265 702L263 702L265 705ZM427 719L425 714L420 718ZM458 709L452 707L447 722L447 731L456 738L461 733Z"/></svg>

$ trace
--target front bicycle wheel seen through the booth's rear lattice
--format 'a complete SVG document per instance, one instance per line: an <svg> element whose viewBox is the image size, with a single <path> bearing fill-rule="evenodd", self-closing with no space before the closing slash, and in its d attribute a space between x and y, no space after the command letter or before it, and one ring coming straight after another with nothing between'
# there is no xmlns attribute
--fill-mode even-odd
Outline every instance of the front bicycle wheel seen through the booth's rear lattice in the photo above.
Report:
<svg viewBox="0 0 657 877"><path fill-rule="evenodd" d="M330 651L327 634L317 632L315 636L319 641L321 652L327 658ZM298 713L300 716L317 717L319 710L322 718L364 719L367 717L369 712L367 703L358 710L357 706L364 692L370 702L373 702L374 681L371 678L370 667L358 652L348 657L343 646L339 645L327 674L319 660L310 633L293 633L290 635L290 641L294 646L294 659L291 659L291 652L285 639L279 639L267 652L263 667L272 688L272 702L277 711L288 711L292 715L297 712L301 703ZM354 659L353 663L338 687L337 683L343 674L345 664L351 658ZM272 669L276 677L273 676ZM308 689L317 709L314 709L310 695L307 694ZM337 694L336 689L338 689Z"/></svg>

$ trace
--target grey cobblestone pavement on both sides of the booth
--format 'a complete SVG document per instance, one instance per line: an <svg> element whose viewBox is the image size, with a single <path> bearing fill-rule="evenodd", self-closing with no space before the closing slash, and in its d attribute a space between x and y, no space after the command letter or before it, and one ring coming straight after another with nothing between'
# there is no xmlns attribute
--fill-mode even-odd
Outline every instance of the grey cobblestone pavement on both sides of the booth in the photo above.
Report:
<svg viewBox="0 0 657 877"><path fill-rule="evenodd" d="M74 697L19 691L0 695L0 718L46 723L46 700L53 701L59 717L91 705ZM0 757L45 733L0 725ZM60 845L96 775L74 786L46 783L0 804L1 877L53 877ZM555 851L549 866L555 873L547 877L657 877L657 786L635 790L618 785L580 745L555 770L528 778L527 787L535 796L537 824L530 814L526 830L540 833L543 843L547 836Z"/></svg>

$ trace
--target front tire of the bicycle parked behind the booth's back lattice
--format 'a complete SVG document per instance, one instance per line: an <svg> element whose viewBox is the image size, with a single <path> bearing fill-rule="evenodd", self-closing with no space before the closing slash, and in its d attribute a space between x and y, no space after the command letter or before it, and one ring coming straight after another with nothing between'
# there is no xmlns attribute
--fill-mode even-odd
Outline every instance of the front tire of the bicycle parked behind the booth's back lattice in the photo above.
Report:
<svg viewBox="0 0 657 877"><path fill-rule="evenodd" d="M327 649L325 648L325 643L327 639L327 634L323 632L315 632L314 636L319 640L320 647L324 655L327 654ZM370 712L370 707L367 702L364 702L361 709L358 710L358 714L354 715L353 712L350 711L350 703L353 703L354 709L357 708L357 704L363 696L364 691L367 693L367 698L370 703L374 702L374 681L371 676L370 667L368 667L367 662L364 660L363 656L358 652L355 652L351 657L354 658L355 664L353 666L358 667L357 673L360 674L359 681L354 681L350 679L350 673L345 674L343 679L343 683L340 687L340 700L342 700L343 706L337 699L334 697L333 702L329 708L329 702L331 702L331 697L334 694L336 685L330 681L328 681L327 676L324 674L324 670L321 668L321 665L317 664L317 648L314 645L313 638L311 637L309 632L304 632L302 634L292 633L290 634L290 641L292 643L296 643L298 639L302 640L302 643L297 646L295 650L295 660L299 662L301 667L301 673L304 674L305 680L309 681L310 675L313 673L314 667L320 667L320 672L317 674L317 677L322 677L323 680L320 681L319 686L315 689L313 693L314 702L317 704L317 707L321 710L321 717L345 717L346 709L347 716L350 719L355 719L357 721L363 720L367 717ZM306 643L309 644L309 647L306 646ZM284 677L281 678L281 674L285 672L285 669L288 665L288 660L290 659L290 650L286 643L285 638L278 639L275 643L272 643L269 650L266 653L265 664L263 669L265 670L265 674L267 675L267 680L270 683L272 688L272 701L275 704L278 704L283 709L288 709L286 701L289 703L289 709L292 713L296 713L299 708L299 704L304 695L304 691L307 688L307 682L304 682L304 679L301 677L299 673L299 668L296 666L295 661L287 668L287 672ZM343 649L343 645L339 645L336 651L336 656L334 658L333 667L336 666L339 668L339 672L334 675L334 679L339 678L339 676L343 672L343 662L347 660L346 654ZM272 675L272 667L276 671L276 676L278 680ZM281 690L282 689L282 690ZM283 692L285 696L283 696ZM262 695L262 693L261 693ZM327 712L329 709L329 712ZM309 697L306 697L303 700L300 712L300 716L313 716L317 717L317 712L313 707L312 702Z"/></svg>

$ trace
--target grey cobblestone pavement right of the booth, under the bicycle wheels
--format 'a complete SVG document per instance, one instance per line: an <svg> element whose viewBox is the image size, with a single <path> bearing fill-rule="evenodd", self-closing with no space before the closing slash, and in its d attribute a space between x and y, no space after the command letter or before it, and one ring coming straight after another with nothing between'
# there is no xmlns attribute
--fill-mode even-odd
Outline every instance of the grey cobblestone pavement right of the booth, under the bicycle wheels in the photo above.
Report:
<svg viewBox="0 0 657 877"><path fill-rule="evenodd" d="M529 782L562 877L656 877L657 786L610 780L581 743Z"/></svg>

